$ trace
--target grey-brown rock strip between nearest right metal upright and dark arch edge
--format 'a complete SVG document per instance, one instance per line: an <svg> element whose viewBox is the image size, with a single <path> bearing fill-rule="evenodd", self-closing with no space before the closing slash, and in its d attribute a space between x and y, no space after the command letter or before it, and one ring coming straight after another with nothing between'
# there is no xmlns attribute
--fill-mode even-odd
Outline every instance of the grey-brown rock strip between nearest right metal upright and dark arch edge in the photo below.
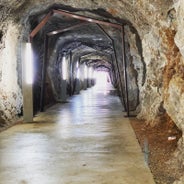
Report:
<svg viewBox="0 0 184 184"><path fill-rule="evenodd" d="M141 89L143 81L145 80L144 61L141 57L142 53L140 53L138 49L137 37L138 35L132 32L129 26L125 26L126 61L130 92L129 101L131 106L134 107L132 110L136 110L139 104L139 89ZM137 107L137 112L139 112L139 110L139 107Z"/></svg>

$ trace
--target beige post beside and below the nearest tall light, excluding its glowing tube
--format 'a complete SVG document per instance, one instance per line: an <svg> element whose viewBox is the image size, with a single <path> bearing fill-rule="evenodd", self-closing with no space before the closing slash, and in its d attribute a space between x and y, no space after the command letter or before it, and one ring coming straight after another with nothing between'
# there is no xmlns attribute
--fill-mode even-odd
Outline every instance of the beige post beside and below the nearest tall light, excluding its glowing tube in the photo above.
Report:
<svg viewBox="0 0 184 184"><path fill-rule="evenodd" d="M28 56L27 56L28 57ZM23 120L33 122L33 84L26 81L26 43L22 43L22 91L23 91Z"/></svg>

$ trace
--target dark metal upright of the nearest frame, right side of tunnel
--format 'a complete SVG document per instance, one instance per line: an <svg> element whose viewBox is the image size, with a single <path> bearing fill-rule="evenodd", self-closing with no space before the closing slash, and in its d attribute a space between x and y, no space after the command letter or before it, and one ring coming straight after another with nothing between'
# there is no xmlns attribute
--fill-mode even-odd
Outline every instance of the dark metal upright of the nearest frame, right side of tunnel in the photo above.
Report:
<svg viewBox="0 0 184 184"><path fill-rule="evenodd" d="M130 117L127 62L126 62L126 55L125 55L125 31L124 31L123 25L122 25L122 29L121 29L121 34L122 34L122 55L123 55L124 83L125 83L126 104L127 104L127 117Z"/></svg>

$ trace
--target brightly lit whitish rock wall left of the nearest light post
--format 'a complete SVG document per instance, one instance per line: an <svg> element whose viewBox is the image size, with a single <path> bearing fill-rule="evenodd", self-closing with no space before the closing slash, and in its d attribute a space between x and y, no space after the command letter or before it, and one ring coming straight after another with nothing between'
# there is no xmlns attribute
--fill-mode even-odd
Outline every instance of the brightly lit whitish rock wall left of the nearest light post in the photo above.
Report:
<svg viewBox="0 0 184 184"><path fill-rule="evenodd" d="M22 106L22 94L17 77L19 31L19 27L12 21L3 25L0 47L0 115L7 124L17 119Z"/></svg>

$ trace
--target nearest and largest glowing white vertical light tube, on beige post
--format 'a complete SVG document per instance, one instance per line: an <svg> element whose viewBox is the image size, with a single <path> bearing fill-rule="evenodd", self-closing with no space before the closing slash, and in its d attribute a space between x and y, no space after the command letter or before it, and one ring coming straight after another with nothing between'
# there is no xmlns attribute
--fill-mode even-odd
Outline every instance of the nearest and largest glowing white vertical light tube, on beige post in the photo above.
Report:
<svg viewBox="0 0 184 184"><path fill-rule="evenodd" d="M26 83L33 83L33 51L31 43L26 43L25 47L25 77Z"/></svg>

